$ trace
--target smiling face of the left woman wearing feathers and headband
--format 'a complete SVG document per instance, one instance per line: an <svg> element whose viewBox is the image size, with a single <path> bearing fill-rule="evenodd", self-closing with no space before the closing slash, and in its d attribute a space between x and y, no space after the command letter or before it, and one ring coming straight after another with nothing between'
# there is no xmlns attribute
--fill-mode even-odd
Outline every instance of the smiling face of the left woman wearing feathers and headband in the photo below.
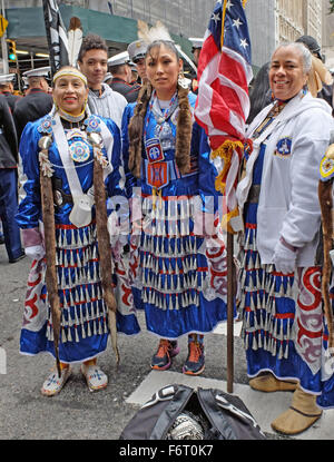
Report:
<svg viewBox="0 0 334 462"><path fill-rule="evenodd" d="M88 88L79 77L61 76L55 82L52 95L60 109L78 116L84 110Z"/></svg>

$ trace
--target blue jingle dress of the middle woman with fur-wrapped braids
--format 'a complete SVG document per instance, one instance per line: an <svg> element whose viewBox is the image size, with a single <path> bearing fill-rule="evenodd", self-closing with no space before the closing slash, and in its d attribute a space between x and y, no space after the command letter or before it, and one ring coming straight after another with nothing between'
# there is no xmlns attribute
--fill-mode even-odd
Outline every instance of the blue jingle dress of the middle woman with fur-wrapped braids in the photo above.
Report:
<svg viewBox="0 0 334 462"><path fill-rule="evenodd" d="M189 95L194 108L196 97ZM128 159L128 105L122 124L125 166ZM181 175L175 160L177 96L160 109L153 94L144 122L140 181L127 173L132 215L141 210L141 227L132 226L130 274L137 308L147 330L175 340L212 332L226 320L226 248L222 235L197 233L203 213L217 217L217 171L209 161L204 130L193 125L190 171ZM141 207L141 208L140 208ZM218 226L218 219L216 220Z"/></svg>

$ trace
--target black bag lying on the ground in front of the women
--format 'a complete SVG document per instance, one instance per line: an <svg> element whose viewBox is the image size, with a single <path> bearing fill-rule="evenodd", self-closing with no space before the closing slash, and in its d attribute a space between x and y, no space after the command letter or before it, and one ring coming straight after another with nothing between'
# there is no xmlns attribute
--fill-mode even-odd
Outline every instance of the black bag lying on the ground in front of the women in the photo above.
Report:
<svg viewBox="0 0 334 462"><path fill-rule="evenodd" d="M168 385L143 405L120 440L265 440L243 401L220 390Z"/></svg>

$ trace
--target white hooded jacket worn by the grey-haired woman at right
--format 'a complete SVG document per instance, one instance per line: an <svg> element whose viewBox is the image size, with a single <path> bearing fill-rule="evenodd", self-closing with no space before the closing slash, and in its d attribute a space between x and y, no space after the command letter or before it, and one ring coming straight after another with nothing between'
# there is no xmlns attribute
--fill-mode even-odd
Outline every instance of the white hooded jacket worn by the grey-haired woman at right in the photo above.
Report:
<svg viewBox="0 0 334 462"><path fill-rule="evenodd" d="M252 135L273 105L263 109L247 129ZM266 145L257 209L257 248L263 264L272 263L282 236L298 247L297 266L313 266L318 244L320 163L334 129L332 109L311 94L294 97L254 141L246 176L237 187L240 212L252 186L255 160L262 142Z"/></svg>

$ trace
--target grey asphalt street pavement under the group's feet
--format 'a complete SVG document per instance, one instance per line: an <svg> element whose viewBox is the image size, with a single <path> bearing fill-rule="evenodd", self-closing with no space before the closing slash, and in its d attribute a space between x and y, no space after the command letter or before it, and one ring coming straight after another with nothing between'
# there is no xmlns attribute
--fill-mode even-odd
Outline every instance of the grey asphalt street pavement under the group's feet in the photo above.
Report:
<svg viewBox="0 0 334 462"><path fill-rule="evenodd" d="M180 340L180 354L174 360L170 371L150 370L149 362L157 338L146 333L144 314L139 313L141 333L132 337L118 336L118 371L110 344L99 358L99 364L109 376L106 390L90 393L79 365L75 365L72 376L59 395L42 396L40 387L53 366L52 357L19 354L29 266L28 258L8 264L4 246L0 246L0 440L118 440L140 405L161 386L183 383L226 391L225 325L206 336L206 368L203 375L189 377L180 373L187 355L186 337ZM269 440L287 440L275 434L269 423L288 407L292 394L264 394L247 386L239 330L240 323L236 322L234 393L244 401ZM333 427L334 410L325 411L312 429L295 439L334 440Z"/></svg>

